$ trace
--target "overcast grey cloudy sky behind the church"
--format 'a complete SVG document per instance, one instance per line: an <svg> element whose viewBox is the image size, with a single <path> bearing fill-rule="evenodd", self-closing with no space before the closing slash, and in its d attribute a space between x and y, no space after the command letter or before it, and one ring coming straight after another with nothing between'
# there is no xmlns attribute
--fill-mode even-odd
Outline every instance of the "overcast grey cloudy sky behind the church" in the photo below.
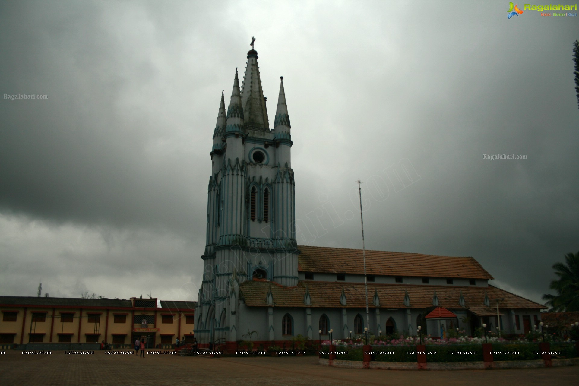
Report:
<svg viewBox="0 0 579 386"><path fill-rule="evenodd" d="M299 244L361 248L359 177L367 249L473 256L543 303L579 251L579 18L507 10L1 1L0 295L196 300L219 98L255 36L270 126L284 76ZM503 154L527 159L483 159Z"/></svg>

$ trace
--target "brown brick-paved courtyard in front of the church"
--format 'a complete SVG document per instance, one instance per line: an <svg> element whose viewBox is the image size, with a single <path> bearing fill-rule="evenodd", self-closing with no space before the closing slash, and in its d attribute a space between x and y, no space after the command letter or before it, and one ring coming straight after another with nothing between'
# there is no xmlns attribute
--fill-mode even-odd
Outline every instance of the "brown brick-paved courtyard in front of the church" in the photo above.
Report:
<svg viewBox="0 0 579 386"><path fill-rule="evenodd" d="M0 355L0 384L12 385L573 385L579 366L550 369L397 371L321 366L317 356L203 358L135 355Z"/></svg>

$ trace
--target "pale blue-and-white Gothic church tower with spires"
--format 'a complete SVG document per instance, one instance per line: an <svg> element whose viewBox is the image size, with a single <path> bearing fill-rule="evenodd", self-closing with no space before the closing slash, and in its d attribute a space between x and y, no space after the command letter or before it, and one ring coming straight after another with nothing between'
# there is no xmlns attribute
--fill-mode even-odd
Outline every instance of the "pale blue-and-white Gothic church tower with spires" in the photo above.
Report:
<svg viewBox="0 0 579 386"><path fill-rule="evenodd" d="M221 94L213 133L207 245L201 256L203 282L195 310L195 336L201 344L241 339L244 332L237 331L244 317L239 305L241 282L298 284L293 142L283 76L271 130L254 40L241 90L235 71L227 112Z"/></svg>

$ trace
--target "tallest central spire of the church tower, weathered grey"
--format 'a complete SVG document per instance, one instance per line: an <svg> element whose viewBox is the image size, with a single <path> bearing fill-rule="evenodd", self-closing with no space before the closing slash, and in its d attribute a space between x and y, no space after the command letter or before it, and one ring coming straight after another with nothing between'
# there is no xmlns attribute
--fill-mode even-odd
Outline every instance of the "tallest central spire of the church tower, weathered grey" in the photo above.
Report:
<svg viewBox="0 0 579 386"><path fill-rule="evenodd" d="M243 76L241 100L245 114L245 127L254 130L269 130L267 108L259 77L257 51L253 48L247 53L247 67L245 67L245 75Z"/></svg>

